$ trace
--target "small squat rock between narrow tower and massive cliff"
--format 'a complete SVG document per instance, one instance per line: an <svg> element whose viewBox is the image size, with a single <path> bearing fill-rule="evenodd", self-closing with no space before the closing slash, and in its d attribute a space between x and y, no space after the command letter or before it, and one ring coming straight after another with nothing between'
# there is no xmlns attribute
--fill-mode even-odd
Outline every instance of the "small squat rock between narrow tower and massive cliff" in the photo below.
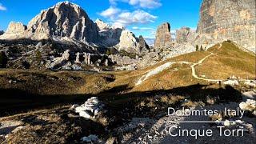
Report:
<svg viewBox="0 0 256 144"><path fill-rule="evenodd" d="M196 33L189 27L182 27L180 30L176 30L176 42L194 42Z"/></svg>

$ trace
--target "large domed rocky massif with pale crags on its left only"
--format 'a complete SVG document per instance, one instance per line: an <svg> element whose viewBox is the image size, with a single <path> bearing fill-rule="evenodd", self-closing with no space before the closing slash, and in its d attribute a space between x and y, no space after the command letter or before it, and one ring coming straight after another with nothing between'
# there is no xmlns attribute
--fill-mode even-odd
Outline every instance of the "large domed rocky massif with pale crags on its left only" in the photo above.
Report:
<svg viewBox="0 0 256 144"><path fill-rule="evenodd" d="M59 2L47 10L42 10L29 22L27 29L21 23L11 22L1 39L42 40L62 37L74 38L81 42L98 42L97 26L80 6Z"/></svg>

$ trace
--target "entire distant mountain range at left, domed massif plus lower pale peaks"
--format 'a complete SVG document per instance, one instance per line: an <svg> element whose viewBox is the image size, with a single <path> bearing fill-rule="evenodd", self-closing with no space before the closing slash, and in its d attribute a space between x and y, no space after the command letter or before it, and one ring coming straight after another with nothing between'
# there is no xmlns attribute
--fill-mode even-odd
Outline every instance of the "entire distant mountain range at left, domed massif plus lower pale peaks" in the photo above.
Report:
<svg viewBox="0 0 256 144"><path fill-rule="evenodd" d="M28 24L10 22L0 40L30 39L34 41L54 40L80 42L87 46L116 47L139 53L139 40L122 26L110 26L102 20L90 20L85 10L70 2L59 2L42 10Z"/></svg>

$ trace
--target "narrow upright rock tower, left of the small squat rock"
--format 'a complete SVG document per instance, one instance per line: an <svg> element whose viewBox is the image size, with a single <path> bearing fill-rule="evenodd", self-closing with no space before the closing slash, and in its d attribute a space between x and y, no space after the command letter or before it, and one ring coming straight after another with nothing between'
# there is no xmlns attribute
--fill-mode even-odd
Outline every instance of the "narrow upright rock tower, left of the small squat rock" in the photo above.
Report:
<svg viewBox="0 0 256 144"><path fill-rule="evenodd" d="M171 42L171 34L170 34L170 23L163 23L161 26L158 26L158 30L156 32L154 47L162 48L168 45Z"/></svg>

